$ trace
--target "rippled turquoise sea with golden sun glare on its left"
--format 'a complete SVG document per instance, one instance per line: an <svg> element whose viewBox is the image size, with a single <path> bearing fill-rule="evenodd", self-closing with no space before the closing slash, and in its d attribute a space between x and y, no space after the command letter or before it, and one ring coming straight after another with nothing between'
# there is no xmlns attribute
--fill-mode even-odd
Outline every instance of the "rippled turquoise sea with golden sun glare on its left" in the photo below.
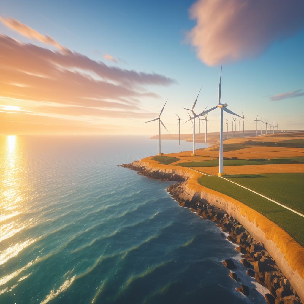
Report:
<svg viewBox="0 0 304 304"><path fill-rule="evenodd" d="M171 182L116 167L156 154L156 140L0 143L0 303L264 303L235 246L178 206L166 192ZM191 146L164 140L162 149ZM235 290L224 258L235 260L249 298Z"/></svg>

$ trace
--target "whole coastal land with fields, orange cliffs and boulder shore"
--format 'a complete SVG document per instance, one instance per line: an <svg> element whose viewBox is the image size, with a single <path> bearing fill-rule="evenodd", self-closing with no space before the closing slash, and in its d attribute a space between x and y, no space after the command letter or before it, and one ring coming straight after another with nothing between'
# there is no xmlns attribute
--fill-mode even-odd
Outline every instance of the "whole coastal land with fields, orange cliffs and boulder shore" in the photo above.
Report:
<svg viewBox="0 0 304 304"><path fill-rule="evenodd" d="M215 137L215 136L214 136ZM199 136L197 136L199 139ZM185 139L185 138L184 138ZM304 300L304 132L223 143L225 175L218 176L219 144L150 156L123 164L150 178L177 181L168 192L183 207L210 219L243 254L244 271L268 288L268 303ZM231 269L227 257L223 264ZM236 289L245 295L247 286Z"/></svg>

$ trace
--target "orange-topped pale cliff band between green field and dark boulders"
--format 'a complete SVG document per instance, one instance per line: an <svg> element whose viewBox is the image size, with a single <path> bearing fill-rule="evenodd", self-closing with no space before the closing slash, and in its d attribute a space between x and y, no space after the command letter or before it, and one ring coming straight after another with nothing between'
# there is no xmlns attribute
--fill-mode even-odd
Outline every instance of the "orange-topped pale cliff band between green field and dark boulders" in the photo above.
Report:
<svg viewBox="0 0 304 304"><path fill-rule="evenodd" d="M182 193L179 193L181 199L189 201L205 199L237 219L254 238L264 244L265 249L271 254L304 302L304 248L282 228L241 202L199 185L197 183L199 173L188 168L161 165L149 158L134 161L133 166L143 175L152 178L166 180L172 178L174 181L184 181L180 184L183 189ZM271 229L271 238L269 231L267 231L269 228Z"/></svg>

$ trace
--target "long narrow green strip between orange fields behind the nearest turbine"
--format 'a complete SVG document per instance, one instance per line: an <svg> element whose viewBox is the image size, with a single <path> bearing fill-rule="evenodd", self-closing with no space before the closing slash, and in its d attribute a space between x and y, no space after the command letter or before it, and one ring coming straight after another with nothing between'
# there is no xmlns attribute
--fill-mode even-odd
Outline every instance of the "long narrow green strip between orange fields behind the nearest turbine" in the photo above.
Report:
<svg viewBox="0 0 304 304"><path fill-rule="evenodd" d="M301 161L303 162L303 160ZM298 164L301 161L286 157L286 158L269 159L269 160L224 159L223 162L224 162L224 166L244 166L244 165L271 165L271 164L293 164L293 163ZM178 166L183 166L183 167L215 167L218 165L219 165L219 160L191 161L187 163L178 164Z"/></svg>

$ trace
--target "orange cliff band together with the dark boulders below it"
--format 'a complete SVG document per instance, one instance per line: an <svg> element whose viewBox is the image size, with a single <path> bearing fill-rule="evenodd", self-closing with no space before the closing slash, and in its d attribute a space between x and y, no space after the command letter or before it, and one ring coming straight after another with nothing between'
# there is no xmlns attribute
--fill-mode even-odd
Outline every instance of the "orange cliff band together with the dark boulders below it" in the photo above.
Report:
<svg viewBox="0 0 304 304"><path fill-rule="evenodd" d="M285 230L236 199L199 185L197 179L202 176L201 173L185 167L162 165L151 158L146 157L122 166L150 178L181 182L168 187L171 196L181 206L192 208L192 211L201 217L217 222L223 231L230 233L229 240L240 245L237 250L243 253L244 259L251 264L249 269L254 268L254 271L249 271L251 275L270 290L273 298L270 297L269 301L276 298L273 303L287 303L285 301L290 301L290 297L295 297L294 294L304 301L304 248ZM210 209L216 213L209 214ZM229 229L223 225L228 225ZM243 237L231 230L239 225L244 229L238 231L243 233ZM266 256L261 252L266 253ZM286 291L289 288L288 281L294 288L292 294L291 291Z"/></svg>

